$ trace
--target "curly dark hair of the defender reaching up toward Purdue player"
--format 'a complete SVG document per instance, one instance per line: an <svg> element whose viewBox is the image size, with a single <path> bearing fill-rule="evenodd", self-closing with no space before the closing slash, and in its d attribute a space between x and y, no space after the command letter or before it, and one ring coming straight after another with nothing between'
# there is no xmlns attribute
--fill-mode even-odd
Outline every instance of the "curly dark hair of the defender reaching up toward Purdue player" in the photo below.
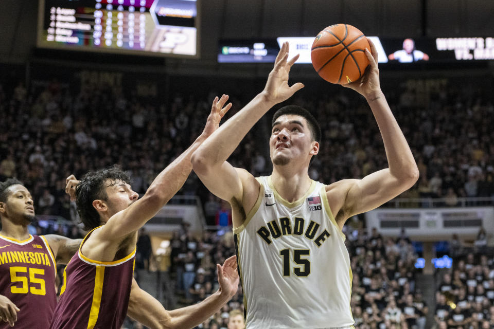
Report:
<svg viewBox="0 0 494 329"><path fill-rule="evenodd" d="M110 185L104 184L107 179L111 181ZM81 178L76 187L76 205L85 230L89 231L101 225L99 213L93 207L93 201L107 200L105 188L115 185L119 180L130 184L129 176L117 165L90 171Z"/></svg>

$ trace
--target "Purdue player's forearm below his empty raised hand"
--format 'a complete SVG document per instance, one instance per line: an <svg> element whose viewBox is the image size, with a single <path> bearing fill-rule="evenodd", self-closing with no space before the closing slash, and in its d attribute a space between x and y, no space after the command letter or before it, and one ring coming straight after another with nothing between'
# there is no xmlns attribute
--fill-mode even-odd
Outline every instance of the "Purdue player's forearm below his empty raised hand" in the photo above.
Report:
<svg viewBox="0 0 494 329"><path fill-rule="evenodd" d="M254 124L273 105L274 103L266 100L263 93L258 94L201 145L192 159L194 168L196 169L200 163L207 163L210 166L226 161Z"/></svg>

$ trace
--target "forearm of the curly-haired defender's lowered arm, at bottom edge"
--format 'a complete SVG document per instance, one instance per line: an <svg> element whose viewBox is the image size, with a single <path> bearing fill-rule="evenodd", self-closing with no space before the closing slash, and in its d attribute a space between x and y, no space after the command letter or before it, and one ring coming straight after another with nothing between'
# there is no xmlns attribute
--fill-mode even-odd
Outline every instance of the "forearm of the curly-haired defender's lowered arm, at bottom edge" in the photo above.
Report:
<svg viewBox="0 0 494 329"><path fill-rule="evenodd" d="M198 304L171 310L169 314L173 323L172 327L175 329L193 328L218 312L228 300L230 297L223 296L220 291L216 291Z"/></svg>

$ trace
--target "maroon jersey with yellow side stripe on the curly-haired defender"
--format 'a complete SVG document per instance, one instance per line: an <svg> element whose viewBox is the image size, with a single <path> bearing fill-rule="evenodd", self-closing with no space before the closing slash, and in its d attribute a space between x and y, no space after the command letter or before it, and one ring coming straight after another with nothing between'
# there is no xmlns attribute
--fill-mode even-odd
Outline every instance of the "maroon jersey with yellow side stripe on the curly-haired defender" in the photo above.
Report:
<svg viewBox="0 0 494 329"><path fill-rule="evenodd" d="M79 252L65 267L60 299L50 328L120 329L125 320L135 249L118 261L91 260L81 252L91 232L87 233Z"/></svg>

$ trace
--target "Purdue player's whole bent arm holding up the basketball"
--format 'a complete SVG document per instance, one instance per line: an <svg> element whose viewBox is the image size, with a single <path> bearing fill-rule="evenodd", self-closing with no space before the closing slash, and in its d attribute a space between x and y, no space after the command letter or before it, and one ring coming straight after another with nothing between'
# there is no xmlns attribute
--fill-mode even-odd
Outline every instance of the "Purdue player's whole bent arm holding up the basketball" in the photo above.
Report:
<svg viewBox="0 0 494 329"><path fill-rule="evenodd" d="M376 48L371 40L369 44L372 52L366 50L365 53L371 64L365 75L359 81L345 86L364 96L371 106L384 142L389 168L369 174L363 179L337 182L335 184L341 185L338 189L328 186L329 199L341 197L344 200L341 207L337 207L343 210L337 218L340 226L346 218L379 207L408 190L418 179L418 168L412 151L381 91ZM341 195L334 195L336 191Z"/></svg>

